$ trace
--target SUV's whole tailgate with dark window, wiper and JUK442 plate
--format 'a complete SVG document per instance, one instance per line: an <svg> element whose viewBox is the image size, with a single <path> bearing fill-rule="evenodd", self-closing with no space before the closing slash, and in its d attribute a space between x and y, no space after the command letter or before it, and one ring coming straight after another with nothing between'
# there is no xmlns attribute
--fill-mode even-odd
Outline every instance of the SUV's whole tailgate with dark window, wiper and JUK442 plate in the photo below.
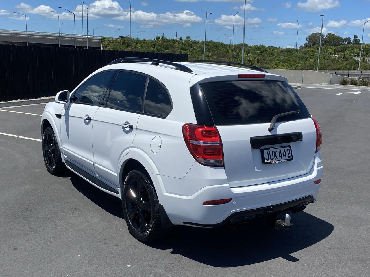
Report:
<svg viewBox="0 0 370 277"><path fill-rule="evenodd" d="M222 140L230 187L263 184L308 173L316 129L296 92L274 80L201 83ZM270 132L270 122L281 113Z"/></svg>

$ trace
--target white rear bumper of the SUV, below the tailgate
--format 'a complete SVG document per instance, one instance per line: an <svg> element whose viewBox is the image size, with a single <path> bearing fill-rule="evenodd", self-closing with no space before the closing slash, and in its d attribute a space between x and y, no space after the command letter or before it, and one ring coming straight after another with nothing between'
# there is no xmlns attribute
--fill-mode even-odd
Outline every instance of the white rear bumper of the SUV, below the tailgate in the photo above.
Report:
<svg viewBox="0 0 370 277"><path fill-rule="evenodd" d="M225 183L207 185L191 196L165 192L158 198L174 225L219 226L239 214L254 218L265 213L269 207L294 202L287 207L291 208L297 205L295 201L302 198L309 198L308 202L314 202L321 184L314 184L314 181L322 178L322 169L321 159L318 159L309 173L299 177L238 188L231 188ZM190 187L191 185L189 182ZM181 186L186 186L186 176L182 179ZM225 198L232 200L223 205L203 205L205 201ZM287 208L277 209L283 212Z"/></svg>

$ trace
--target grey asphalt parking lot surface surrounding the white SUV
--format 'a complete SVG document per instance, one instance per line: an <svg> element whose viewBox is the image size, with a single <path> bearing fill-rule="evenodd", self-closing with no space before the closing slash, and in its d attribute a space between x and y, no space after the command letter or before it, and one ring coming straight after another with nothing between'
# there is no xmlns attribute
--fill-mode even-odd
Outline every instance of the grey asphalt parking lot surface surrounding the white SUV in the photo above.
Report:
<svg viewBox="0 0 370 277"><path fill-rule="evenodd" d="M175 226L145 244L118 198L48 174L29 139L40 139L44 104L1 108L0 276L370 276L370 90L296 92L322 127L324 175L295 226Z"/></svg>

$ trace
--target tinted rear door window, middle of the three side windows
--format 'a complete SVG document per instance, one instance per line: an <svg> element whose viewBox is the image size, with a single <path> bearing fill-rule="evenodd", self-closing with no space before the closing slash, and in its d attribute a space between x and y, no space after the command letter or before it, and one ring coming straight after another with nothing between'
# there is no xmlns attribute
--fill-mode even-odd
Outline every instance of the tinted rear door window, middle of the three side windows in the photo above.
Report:
<svg viewBox="0 0 370 277"><path fill-rule="evenodd" d="M112 86L107 106L141 111L142 94L147 76L120 71Z"/></svg>

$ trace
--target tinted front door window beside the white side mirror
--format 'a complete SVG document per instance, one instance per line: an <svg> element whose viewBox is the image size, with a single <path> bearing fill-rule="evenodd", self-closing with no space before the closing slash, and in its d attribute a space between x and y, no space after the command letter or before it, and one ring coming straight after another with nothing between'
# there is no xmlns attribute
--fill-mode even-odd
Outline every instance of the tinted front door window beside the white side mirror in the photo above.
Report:
<svg viewBox="0 0 370 277"><path fill-rule="evenodd" d="M105 71L88 79L73 95L71 102L99 104L114 71Z"/></svg>

